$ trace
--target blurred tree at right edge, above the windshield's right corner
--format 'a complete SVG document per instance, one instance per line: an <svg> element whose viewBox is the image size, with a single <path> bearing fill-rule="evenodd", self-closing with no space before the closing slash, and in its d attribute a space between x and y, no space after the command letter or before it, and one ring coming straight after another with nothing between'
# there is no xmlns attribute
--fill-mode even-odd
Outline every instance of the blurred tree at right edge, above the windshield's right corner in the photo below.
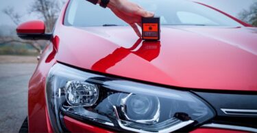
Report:
<svg viewBox="0 0 257 133"><path fill-rule="evenodd" d="M253 3L249 10L243 10L238 14L238 18L257 27L257 2Z"/></svg>

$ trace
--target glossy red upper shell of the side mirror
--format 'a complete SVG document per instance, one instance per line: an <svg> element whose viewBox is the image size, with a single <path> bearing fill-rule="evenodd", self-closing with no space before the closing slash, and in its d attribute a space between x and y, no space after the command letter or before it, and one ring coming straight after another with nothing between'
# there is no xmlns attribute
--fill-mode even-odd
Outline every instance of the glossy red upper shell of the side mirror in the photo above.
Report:
<svg viewBox="0 0 257 133"><path fill-rule="evenodd" d="M16 29L17 33L45 33L45 23L42 20L32 20L22 23Z"/></svg>

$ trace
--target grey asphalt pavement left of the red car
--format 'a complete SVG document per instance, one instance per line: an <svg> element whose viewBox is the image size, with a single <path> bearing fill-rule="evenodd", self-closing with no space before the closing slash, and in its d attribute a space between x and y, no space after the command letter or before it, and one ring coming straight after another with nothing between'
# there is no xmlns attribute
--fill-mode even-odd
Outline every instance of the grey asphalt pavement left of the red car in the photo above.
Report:
<svg viewBox="0 0 257 133"><path fill-rule="evenodd" d="M1 61L0 132L19 132L27 117L27 88L36 63L1 63Z"/></svg>

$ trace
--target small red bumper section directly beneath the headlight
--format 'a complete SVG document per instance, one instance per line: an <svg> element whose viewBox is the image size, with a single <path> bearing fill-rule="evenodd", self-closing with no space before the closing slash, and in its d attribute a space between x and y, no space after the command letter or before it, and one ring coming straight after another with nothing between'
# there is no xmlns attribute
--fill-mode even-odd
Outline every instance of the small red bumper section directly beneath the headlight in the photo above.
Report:
<svg viewBox="0 0 257 133"><path fill-rule="evenodd" d="M93 125L88 125L86 123L82 123L80 121L77 121L75 119L72 119L71 117L64 116L64 123L66 125L66 128L70 132L81 132L81 133L112 133L111 131L105 130L103 128L97 128Z"/></svg>

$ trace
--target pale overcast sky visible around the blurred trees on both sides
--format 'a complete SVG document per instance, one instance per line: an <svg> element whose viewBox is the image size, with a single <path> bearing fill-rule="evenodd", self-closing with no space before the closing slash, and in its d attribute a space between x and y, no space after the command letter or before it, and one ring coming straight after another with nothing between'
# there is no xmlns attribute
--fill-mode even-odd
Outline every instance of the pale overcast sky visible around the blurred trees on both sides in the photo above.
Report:
<svg viewBox="0 0 257 133"><path fill-rule="evenodd" d="M14 7L16 12L21 14L27 13L27 8L34 0L0 0L0 25L14 25L10 18L3 14L2 10L8 6ZM55 0L58 1L58 0ZM249 6L257 0L192 0L206 3L212 7L218 8L232 16L237 16L238 12L243 9L249 8ZM33 20L34 16L24 16L24 20Z"/></svg>

